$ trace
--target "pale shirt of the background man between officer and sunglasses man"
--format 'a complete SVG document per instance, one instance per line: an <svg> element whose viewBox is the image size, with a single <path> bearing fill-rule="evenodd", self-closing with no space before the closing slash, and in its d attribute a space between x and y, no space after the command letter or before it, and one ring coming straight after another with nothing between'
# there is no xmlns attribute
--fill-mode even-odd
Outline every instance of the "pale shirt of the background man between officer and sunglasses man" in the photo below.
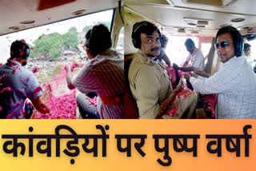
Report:
<svg viewBox="0 0 256 171"><path fill-rule="evenodd" d="M190 54L191 66L197 67L200 70L205 70L205 62L201 50L194 48L194 52Z"/></svg>

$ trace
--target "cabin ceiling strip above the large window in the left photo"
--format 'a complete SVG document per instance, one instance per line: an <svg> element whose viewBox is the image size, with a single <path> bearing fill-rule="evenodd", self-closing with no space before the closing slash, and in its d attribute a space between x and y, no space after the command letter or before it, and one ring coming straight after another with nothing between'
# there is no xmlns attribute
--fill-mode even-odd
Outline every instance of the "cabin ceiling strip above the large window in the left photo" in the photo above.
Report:
<svg viewBox="0 0 256 171"><path fill-rule="evenodd" d="M62 5L63 3L66 4ZM118 0L1 0L0 35L113 9L116 6L118 6ZM47 9L43 10L45 8ZM85 10L85 12L74 15L73 13L78 10ZM20 23L30 21L34 23Z"/></svg>

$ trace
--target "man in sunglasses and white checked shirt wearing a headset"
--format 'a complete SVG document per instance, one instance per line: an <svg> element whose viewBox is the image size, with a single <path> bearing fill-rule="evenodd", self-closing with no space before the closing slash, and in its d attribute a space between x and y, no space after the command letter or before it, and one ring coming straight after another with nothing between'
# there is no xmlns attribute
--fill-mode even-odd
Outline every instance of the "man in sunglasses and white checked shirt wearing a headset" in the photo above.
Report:
<svg viewBox="0 0 256 171"><path fill-rule="evenodd" d="M218 93L218 118L256 118L256 77L242 55L242 46L237 29L222 27L215 44L222 68L210 78L186 75L198 92Z"/></svg>

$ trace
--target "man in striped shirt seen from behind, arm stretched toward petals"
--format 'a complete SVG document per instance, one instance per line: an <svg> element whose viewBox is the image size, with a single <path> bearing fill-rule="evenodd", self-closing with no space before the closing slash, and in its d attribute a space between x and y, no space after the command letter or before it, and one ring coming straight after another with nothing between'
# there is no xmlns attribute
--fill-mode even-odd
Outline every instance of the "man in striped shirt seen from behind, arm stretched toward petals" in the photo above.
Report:
<svg viewBox="0 0 256 171"><path fill-rule="evenodd" d="M69 89L77 88L79 111L83 118L121 118L125 91L124 62L112 46L110 31L99 24L86 33L86 54L89 62L72 80L70 66L66 66ZM86 93L98 94L97 107L90 105Z"/></svg>

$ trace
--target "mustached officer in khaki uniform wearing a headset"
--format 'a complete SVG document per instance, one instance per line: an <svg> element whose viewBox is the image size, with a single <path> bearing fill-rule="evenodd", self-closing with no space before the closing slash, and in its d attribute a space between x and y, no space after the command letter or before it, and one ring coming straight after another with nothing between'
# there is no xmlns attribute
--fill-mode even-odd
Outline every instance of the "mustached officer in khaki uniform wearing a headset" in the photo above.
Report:
<svg viewBox="0 0 256 171"><path fill-rule="evenodd" d="M139 118L153 119L159 116L163 104L170 105L168 101L173 92L166 67L157 59L161 48L161 33L157 26L143 21L134 24L131 37L138 53L130 63L128 72L130 89L138 105ZM196 97L194 105L195 103ZM194 107L190 103L186 105L183 109ZM182 113L172 118L180 117Z"/></svg>

